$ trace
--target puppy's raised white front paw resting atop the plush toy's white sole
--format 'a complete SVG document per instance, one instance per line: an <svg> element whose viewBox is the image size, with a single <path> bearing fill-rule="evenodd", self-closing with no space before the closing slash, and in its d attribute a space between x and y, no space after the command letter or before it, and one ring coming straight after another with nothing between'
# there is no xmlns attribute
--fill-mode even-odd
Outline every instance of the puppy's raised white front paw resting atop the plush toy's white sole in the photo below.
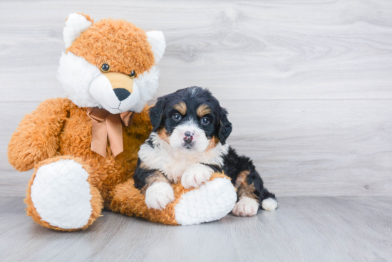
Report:
<svg viewBox="0 0 392 262"><path fill-rule="evenodd" d="M184 174L182 174L182 187L186 189L200 187L201 184L205 184L210 180L213 172L214 171L210 167L207 167L204 164L192 164L185 169Z"/></svg>

